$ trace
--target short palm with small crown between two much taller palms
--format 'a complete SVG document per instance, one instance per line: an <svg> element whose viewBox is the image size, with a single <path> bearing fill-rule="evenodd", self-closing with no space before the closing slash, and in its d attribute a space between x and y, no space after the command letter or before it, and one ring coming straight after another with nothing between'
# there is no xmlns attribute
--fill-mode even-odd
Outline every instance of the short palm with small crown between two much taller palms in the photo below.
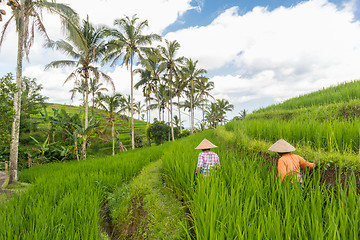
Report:
<svg viewBox="0 0 360 240"><path fill-rule="evenodd" d="M109 115L109 122L111 123L111 136L113 141L113 156L115 155L115 111L121 106L123 96L119 93L112 96L99 94L99 106Z"/></svg>

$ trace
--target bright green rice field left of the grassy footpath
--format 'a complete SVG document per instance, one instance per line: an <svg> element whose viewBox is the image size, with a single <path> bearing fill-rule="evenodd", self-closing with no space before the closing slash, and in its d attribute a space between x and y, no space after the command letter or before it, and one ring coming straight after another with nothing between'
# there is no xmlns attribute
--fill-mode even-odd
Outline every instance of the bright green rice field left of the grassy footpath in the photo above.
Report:
<svg viewBox="0 0 360 240"><path fill-rule="evenodd" d="M0 239L99 239L106 194L160 156L151 148L21 172L31 187L0 205Z"/></svg>

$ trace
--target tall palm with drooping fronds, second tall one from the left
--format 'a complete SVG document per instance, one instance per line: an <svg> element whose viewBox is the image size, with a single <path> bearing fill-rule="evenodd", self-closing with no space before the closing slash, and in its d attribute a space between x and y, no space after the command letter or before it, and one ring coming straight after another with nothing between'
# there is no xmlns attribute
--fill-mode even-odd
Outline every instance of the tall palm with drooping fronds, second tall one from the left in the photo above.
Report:
<svg viewBox="0 0 360 240"><path fill-rule="evenodd" d="M65 54L71 56L75 60L59 60L49 63L45 68L59 68L59 67L76 67L73 72L65 80L64 84L70 80L80 77L81 85L84 84L84 106L85 106L85 125L88 127L88 107L89 107L89 78L103 78L113 86L111 78L105 73L101 72L95 64L98 63L105 54L105 27L95 28L90 22L89 18L83 20L82 25L78 28L78 34L70 37L70 42L59 40L56 42L49 41L46 45L51 48L56 48L63 51ZM83 148L84 149L84 148ZM86 156L86 154L83 154Z"/></svg>

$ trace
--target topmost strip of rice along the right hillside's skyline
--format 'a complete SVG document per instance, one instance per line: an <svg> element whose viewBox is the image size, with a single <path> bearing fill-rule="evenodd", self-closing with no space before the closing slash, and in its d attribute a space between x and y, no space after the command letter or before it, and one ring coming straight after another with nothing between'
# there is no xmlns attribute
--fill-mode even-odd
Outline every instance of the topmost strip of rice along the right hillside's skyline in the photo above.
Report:
<svg viewBox="0 0 360 240"><path fill-rule="evenodd" d="M348 102L352 99L360 99L360 81L342 83L338 86L322 89L304 96L289 99L281 104L260 109L257 112L263 112L274 109L296 109L301 107L311 107L327 105L338 102Z"/></svg>

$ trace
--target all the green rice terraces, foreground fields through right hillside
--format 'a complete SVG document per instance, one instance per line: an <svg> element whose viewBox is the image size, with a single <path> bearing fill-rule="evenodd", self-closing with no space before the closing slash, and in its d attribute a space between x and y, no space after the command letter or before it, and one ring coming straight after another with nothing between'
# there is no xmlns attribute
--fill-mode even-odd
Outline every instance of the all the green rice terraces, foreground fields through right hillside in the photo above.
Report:
<svg viewBox="0 0 360 240"><path fill-rule="evenodd" d="M357 99L278 105L162 146L22 171L30 185L0 202L0 238L358 239ZM196 179L204 138L221 167ZM302 172L304 188L279 183L267 150L278 138L320 166Z"/></svg>

